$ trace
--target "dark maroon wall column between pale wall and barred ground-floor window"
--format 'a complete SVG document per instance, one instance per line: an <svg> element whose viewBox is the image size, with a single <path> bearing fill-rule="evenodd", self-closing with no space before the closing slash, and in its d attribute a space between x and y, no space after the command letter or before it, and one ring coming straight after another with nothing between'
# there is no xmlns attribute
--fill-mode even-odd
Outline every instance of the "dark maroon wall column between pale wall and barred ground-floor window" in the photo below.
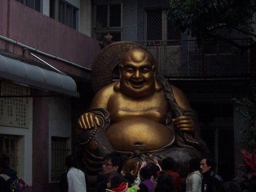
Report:
<svg viewBox="0 0 256 192"><path fill-rule="evenodd" d="M36 97L33 99L32 191L49 191L48 111L49 98Z"/></svg>

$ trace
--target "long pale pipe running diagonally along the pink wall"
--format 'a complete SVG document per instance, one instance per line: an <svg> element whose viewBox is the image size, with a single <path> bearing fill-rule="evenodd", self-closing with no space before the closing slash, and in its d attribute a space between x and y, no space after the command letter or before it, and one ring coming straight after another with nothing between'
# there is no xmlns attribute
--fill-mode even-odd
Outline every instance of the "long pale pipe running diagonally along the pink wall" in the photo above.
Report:
<svg viewBox="0 0 256 192"><path fill-rule="evenodd" d="M74 67L77 67L77 68L80 68L80 69L83 69L83 70L87 70L87 71L92 71L92 70L89 69L89 68L86 68L86 67L77 65L76 63L71 62L71 61L68 61L68 60L66 60L66 59L62 59L62 58L60 58L60 57L57 57L57 56L54 56L54 55L51 55L51 54L48 54L48 53L39 51L39 50L37 50L37 49L35 49L35 48L26 46L26 45L24 45L24 44L22 44L22 43L20 43L20 42L18 42L18 41L16 41L16 40L13 40L13 39L8 38L8 37L5 37L5 36L0 35L0 39L6 40L6 41L8 41L8 42L11 42L12 44L15 44L15 45L17 45L17 46L20 46L20 47L22 47L22 48L25 48L25 49L27 49L27 50L29 50L29 51L33 51L33 52L39 53L39 54L41 54L41 55L44 55L44 56L47 56L47 57L50 57L50 58L59 60L59 61L61 61L61 62L68 63L68 64L71 65L71 66L74 66Z"/></svg>

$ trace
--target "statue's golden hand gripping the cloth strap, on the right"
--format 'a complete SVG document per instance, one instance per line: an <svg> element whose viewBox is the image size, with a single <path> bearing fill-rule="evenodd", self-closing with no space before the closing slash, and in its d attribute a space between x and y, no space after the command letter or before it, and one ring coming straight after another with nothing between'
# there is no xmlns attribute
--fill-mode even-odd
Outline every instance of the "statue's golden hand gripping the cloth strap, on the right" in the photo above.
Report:
<svg viewBox="0 0 256 192"><path fill-rule="evenodd" d="M180 132L189 132L195 136L195 125L193 119L190 116L180 116L173 119L173 122Z"/></svg>

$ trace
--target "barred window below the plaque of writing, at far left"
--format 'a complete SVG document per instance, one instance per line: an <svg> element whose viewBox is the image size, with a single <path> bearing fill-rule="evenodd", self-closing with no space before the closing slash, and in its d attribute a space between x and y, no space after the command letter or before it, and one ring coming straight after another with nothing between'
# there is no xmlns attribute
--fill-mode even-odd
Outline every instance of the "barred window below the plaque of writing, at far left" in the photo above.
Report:
<svg viewBox="0 0 256 192"><path fill-rule="evenodd" d="M9 155L9 166L18 173L18 136L0 135L0 151Z"/></svg>

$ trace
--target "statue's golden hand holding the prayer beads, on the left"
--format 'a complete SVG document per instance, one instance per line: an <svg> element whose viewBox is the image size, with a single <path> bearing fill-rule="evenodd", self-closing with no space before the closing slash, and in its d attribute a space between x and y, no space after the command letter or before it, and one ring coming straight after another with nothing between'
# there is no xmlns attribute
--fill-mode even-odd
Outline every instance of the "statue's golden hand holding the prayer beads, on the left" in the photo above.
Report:
<svg viewBox="0 0 256 192"><path fill-rule="evenodd" d="M84 113L77 120L78 126L82 129L92 129L95 124L100 126L100 120L94 113Z"/></svg>

